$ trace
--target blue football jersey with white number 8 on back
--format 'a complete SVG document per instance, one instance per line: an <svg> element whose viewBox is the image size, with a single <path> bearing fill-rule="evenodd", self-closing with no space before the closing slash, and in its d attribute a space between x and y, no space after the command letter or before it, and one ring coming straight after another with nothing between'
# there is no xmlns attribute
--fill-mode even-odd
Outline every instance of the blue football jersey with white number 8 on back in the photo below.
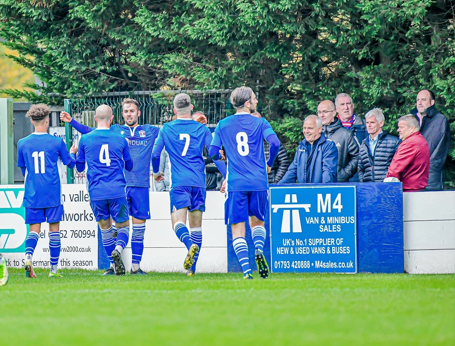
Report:
<svg viewBox="0 0 455 346"><path fill-rule="evenodd" d="M237 113L220 120L212 145L224 147L229 191L268 189L263 140L275 134L269 122L249 113Z"/></svg>

